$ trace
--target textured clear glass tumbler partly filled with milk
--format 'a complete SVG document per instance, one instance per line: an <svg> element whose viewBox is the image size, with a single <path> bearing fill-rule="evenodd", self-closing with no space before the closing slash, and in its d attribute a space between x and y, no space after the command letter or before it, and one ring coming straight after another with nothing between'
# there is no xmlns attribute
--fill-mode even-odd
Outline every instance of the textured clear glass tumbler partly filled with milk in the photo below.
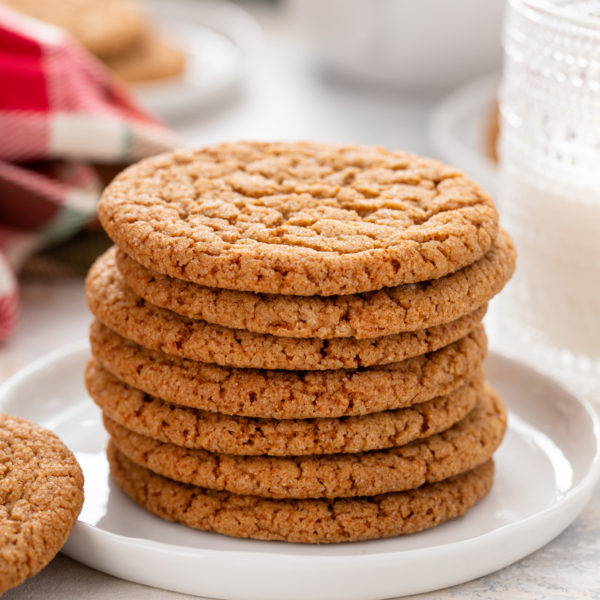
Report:
<svg viewBox="0 0 600 600"><path fill-rule="evenodd" d="M600 1L509 0L504 52L500 206L519 258L501 319L600 402Z"/></svg>

